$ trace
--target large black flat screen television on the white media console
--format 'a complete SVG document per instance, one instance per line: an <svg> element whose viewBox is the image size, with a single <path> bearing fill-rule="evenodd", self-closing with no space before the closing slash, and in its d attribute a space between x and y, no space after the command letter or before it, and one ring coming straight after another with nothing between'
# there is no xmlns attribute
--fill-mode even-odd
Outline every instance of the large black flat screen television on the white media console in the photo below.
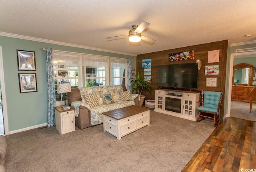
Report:
<svg viewBox="0 0 256 172"><path fill-rule="evenodd" d="M195 89L198 85L198 63L158 66L158 86Z"/></svg>

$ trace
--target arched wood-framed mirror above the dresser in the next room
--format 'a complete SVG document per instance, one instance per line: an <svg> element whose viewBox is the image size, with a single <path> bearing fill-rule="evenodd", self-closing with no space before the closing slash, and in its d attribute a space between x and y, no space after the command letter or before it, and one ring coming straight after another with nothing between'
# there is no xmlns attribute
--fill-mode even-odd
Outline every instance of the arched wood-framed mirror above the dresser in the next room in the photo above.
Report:
<svg viewBox="0 0 256 172"><path fill-rule="evenodd" d="M233 67L233 85L256 85L256 67L240 63Z"/></svg>

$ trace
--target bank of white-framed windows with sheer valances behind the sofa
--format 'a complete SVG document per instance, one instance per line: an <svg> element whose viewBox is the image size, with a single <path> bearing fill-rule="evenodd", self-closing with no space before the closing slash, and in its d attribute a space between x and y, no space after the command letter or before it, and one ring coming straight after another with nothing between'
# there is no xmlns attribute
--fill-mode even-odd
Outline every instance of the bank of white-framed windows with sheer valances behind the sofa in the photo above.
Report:
<svg viewBox="0 0 256 172"><path fill-rule="evenodd" d="M72 88L127 85L127 59L56 50L52 57L56 105L64 104L64 97L57 93L58 83L70 83Z"/></svg>

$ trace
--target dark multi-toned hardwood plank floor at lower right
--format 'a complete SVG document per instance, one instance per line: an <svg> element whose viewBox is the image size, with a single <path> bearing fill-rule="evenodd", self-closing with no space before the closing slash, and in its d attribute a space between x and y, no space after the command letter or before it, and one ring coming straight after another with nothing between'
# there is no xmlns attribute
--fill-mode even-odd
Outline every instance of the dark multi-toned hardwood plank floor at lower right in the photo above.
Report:
<svg viewBox="0 0 256 172"><path fill-rule="evenodd" d="M224 122L216 127L182 170L241 171L256 172L256 122L233 117L224 119Z"/></svg>

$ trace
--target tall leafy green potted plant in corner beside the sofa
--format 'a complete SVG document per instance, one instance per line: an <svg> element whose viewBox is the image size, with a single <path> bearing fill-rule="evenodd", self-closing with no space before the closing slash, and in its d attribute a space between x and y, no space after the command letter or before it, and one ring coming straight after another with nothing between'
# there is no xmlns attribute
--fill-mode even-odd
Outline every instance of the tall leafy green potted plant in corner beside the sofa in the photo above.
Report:
<svg viewBox="0 0 256 172"><path fill-rule="evenodd" d="M136 94L140 95L140 102L139 105L142 106L145 96L141 95L143 89L146 89L148 91L151 91L151 87L148 85L148 82L150 81L145 81L145 77L141 74L135 75L135 78L131 79L131 87L132 87L132 93L136 92Z"/></svg>

